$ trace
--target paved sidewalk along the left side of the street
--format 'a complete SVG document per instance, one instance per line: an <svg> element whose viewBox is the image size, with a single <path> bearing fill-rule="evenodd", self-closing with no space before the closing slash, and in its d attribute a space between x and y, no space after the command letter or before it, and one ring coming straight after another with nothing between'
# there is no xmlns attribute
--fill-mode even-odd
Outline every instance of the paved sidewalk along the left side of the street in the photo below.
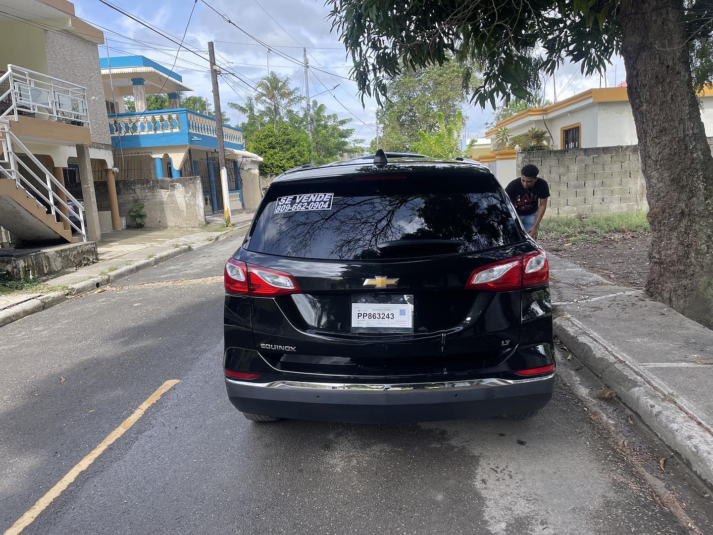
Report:
<svg viewBox="0 0 713 535"><path fill-rule="evenodd" d="M78 282L94 280L96 277L108 277L111 280L120 278L123 273L129 275L143 267L150 267L146 260L155 259L162 262L200 248L215 240L230 235L245 233L247 225L252 221L255 210L240 210L232 214L233 228L220 227L217 223L205 229L145 229L127 228L103 233L101 241L97 242L99 261L79 267L76 270L66 270L56 277L46 280L48 287L70 286ZM220 217L222 224L222 215ZM145 265L144 265L145 264ZM133 266L128 268L128 266ZM123 276L125 276L123 275ZM76 295L78 292L71 292ZM22 303L36 300L40 293L16 292L11 295L0 295L0 315L4 310L16 307ZM0 322L0 325L4 325Z"/></svg>

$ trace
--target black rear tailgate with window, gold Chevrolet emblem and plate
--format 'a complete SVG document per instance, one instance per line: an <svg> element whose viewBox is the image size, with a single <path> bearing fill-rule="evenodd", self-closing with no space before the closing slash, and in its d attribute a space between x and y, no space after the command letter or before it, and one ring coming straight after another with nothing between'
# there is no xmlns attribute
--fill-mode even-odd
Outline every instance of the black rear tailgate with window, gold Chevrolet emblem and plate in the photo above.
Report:
<svg viewBox="0 0 713 535"><path fill-rule="evenodd" d="M327 205L317 195L327 195L329 208L319 208ZM379 250L389 240L424 238L461 245ZM520 291L465 287L477 267L530 247L492 176L471 172L271 188L237 258L287 272L299 286L296 294L251 298L255 346L277 369L437 375L449 363L504 359L517 345ZM394 305L387 312L405 311L412 321L359 327L353 310L364 302Z"/></svg>

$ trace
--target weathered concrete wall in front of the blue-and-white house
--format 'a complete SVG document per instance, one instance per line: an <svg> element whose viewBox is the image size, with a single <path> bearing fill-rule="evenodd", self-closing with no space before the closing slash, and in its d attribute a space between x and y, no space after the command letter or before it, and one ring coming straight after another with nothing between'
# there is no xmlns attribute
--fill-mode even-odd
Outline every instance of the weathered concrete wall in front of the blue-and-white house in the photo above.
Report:
<svg viewBox="0 0 713 535"><path fill-rule="evenodd" d="M116 195L119 215L126 218L127 226L135 224L128 212L139 201L146 213L145 228L195 228L205 224L199 176L116 180Z"/></svg>

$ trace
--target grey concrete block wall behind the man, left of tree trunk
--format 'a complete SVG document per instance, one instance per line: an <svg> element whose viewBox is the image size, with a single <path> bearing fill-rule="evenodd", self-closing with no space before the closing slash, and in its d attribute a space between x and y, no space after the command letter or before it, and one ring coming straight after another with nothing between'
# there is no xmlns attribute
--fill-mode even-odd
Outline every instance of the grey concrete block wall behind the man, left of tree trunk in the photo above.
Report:
<svg viewBox="0 0 713 535"><path fill-rule="evenodd" d="M648 210L635 145L518 153L518 170L528 163L550 185L545 217Z"/></svg>

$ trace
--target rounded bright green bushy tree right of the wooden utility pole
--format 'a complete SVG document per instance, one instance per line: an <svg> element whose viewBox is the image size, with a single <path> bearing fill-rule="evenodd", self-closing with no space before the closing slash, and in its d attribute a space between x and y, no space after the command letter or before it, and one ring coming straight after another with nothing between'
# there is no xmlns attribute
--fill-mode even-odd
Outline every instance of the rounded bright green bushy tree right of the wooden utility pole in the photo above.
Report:
<svg viewBox="0 0 713 535"><path fill-rule="evenodd" d="M260 174L275 176L309 163L309 137L306 131L287 123L277 127L268 123L247 140L247 150L262 156Z"/></svg>

